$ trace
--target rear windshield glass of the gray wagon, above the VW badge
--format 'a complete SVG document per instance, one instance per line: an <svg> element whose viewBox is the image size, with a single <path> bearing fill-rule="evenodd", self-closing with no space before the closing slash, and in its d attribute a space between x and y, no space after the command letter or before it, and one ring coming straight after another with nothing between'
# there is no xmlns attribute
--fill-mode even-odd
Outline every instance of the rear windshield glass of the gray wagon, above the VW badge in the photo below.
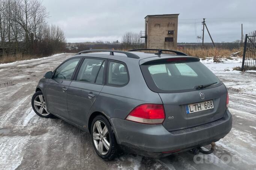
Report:
<svg viewBox="0 0 256 170"><path fill-rule="evenodd" d="M215 83L205 88L208 89L222 84L200 61L151 63L140 67L148 87L158 93L188 92L199 85Z"/></svg>

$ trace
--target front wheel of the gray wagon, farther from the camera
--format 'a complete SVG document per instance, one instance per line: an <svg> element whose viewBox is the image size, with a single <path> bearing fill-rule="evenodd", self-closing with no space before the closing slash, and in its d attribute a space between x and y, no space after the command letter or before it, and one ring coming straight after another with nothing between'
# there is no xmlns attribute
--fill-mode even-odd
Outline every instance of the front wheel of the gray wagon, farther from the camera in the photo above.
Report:
<svg viewBox="0 0 256 170"><path fill-rule="evenodd" d="M50 112L47 111L45 98L41 91L37 91L32 96L31 105L35 113L40 117L45 117L45 118L51 117Z"/></svg>

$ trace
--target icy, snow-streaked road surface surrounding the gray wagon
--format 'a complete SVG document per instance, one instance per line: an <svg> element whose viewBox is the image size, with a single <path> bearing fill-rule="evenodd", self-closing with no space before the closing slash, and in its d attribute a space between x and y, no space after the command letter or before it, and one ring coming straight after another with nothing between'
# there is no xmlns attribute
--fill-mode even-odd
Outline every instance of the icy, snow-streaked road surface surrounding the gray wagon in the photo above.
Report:
<svg viewBox="0 0 256 170"><path fill-rule="evenodd" d="M232 71L241 59L202 61L229 89L231 132L214 154L190 152L155 159L123 154L101 160L90 136L57 118L40 118L31 107L39 79L73 54L0 65L0 169L256 169L256 73ZM209 146L206 146L209 148Z"/></svg>

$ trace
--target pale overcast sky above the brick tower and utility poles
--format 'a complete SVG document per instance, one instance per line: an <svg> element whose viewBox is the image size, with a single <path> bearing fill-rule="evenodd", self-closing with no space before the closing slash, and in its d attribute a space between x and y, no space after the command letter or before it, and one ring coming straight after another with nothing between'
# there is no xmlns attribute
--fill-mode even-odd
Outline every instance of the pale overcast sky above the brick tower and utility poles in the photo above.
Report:
<svg viewBox="0 0 256 170"><path fill-rule="evenodd" d="M59 25L67 42L116 41L145 30L145 16L179 13L178 42L197 42L202 18L215 42L241 39L256 30L256 0L43 0L48 23ZM206 32L207 33L207 32ZM209 35L205 41L211 42Z"/></svg>

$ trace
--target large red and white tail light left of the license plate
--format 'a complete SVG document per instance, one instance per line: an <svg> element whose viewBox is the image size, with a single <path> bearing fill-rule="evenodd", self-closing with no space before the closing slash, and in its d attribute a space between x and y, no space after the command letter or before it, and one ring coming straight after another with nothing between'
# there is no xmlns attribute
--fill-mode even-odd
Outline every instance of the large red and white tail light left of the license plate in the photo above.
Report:
<svg viewBox="0 0 256 170"><path fill-rule="evenodd" d="M164 119L164 106L158 104L139 105L126 117L126 120L145 124L161 124Z"/></svg>

